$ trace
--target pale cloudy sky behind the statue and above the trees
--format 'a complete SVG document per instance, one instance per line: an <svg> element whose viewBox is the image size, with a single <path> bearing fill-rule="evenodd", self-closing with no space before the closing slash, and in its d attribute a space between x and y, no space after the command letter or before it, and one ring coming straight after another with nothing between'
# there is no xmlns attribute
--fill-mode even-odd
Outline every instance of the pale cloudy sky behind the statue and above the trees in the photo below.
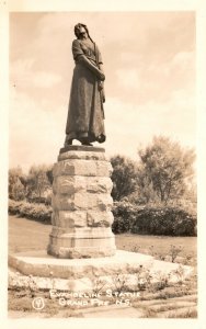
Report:
<svg viewBox="0 0 206 329"><path fill-rule="evenodd" d="M195 147L195 12L12 12L10 168L57 160L79 22L98 44L106 76L107 139L94 145L131 159L154 135Z"/></svg>

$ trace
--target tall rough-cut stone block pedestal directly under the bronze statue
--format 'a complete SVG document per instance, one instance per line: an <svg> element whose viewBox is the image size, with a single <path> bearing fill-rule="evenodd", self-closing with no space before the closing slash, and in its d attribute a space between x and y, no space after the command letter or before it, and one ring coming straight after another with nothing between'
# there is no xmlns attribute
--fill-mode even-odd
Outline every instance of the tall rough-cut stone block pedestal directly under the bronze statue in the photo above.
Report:
<svg viewBox="0 0 206 329"><path fill-rule="evenodd" d="M60 149L53 174L53 229L47 253L56 258L115 254L112 166L103 148Z"/></svg>

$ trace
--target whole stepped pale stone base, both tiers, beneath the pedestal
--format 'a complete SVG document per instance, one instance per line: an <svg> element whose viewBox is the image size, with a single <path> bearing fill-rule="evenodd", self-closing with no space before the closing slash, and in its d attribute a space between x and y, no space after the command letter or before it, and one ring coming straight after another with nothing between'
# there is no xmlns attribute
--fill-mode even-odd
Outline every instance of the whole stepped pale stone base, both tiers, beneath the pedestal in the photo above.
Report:
<svg viewBox="0 0 206 329"><path fill-rule="evenodd" d="M42 250L10 254L9 266L10 286L26 287L32 280L38 288L92 292L100 286L115 291L123 276L123 281L127 282L126 290L136 291L138 280L142 280L140 269L142 275L150 271L151 281L158 282L168 273L175 272L180 264L123 250L117 250L115 256L96 259L56 259ZM184 265L182 269L183 277L193 271L191 266ZM173 274L170 280L175 282L179 275Z"/></svg>

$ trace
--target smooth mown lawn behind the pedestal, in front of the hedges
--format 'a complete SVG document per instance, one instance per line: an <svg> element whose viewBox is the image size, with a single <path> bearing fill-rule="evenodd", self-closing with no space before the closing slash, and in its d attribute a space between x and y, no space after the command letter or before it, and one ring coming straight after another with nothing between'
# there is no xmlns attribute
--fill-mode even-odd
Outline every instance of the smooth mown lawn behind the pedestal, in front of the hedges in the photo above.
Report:
<svg viewBox="0 0 206 329"><path fill-rule="evenodd" d="M44 225L26 218L9 217L9 251L20 252L46 249L52 225ZM115 237L116 248L141 253L163 254L171 245L183 247L179 256L196 259L196 237L165 237L122 234ZM153 246L153 247L152 247Z"/></svg>

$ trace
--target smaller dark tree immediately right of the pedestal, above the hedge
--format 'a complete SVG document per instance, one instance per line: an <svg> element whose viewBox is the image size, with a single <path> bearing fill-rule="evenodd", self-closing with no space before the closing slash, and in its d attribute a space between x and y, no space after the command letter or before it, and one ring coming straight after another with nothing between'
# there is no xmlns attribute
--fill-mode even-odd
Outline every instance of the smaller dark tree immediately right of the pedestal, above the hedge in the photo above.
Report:
<svg viewBox="0 0 206 329"><path fill-rule="evenodd" d="M136 164L133 160L123 156L112 157L111 163L113 166L112 196L114 201L119 201L136 190Z"/></svg>

